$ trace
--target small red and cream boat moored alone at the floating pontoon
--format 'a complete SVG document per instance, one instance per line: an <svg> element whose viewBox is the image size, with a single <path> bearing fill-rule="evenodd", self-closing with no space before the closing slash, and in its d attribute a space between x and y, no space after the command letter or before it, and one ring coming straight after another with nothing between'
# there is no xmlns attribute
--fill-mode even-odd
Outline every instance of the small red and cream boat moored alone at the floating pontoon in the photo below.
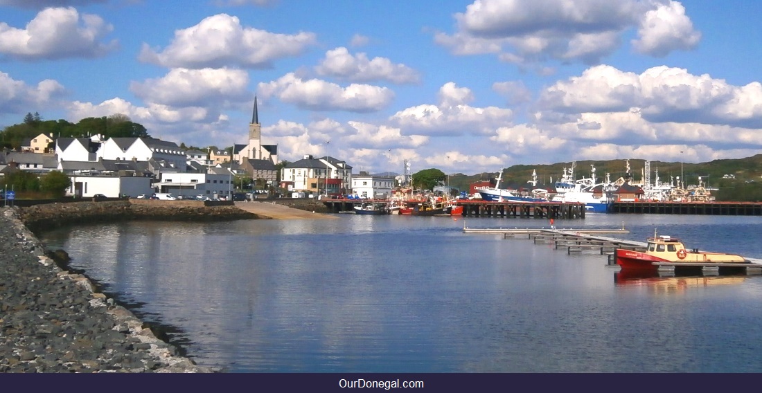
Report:
<svg viewBox="0 0 762 393"><path fill-rule="evenodd" d="M717 265L722 264L758 264L757 260L750 260L741 255L724 254L719 252L706 252L687 250L682 241L671 236L656 236L648 238L647 249L645 252L623 250L617 248L614 250L616 264L622 267L622 270L642 270L655 271L658 265L655 263L671 264L702 264Z"/></svg>

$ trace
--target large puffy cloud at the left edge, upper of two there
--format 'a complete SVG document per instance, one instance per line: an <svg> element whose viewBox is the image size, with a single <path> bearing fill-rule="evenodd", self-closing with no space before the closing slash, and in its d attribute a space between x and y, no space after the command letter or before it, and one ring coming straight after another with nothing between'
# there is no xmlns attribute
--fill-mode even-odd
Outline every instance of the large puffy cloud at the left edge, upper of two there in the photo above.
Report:
<svg viewBox="0 0 762 393"><path fill-rule="evenodd" d="M0 54L25 60L103 56L117 47L116 40L101 42L111 30L98 15L46 8L25 29L0 23Z"/></svg>

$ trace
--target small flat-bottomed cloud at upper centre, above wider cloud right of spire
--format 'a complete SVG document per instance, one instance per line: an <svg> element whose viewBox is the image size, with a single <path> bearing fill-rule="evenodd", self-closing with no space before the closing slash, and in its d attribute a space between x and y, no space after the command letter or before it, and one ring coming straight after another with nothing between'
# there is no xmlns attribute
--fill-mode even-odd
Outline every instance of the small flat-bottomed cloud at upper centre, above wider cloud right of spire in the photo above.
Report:
<svg viewBox="0 0 762 393"><path fill-rule="evenodd" d="M344 47L328 50L320 65L315 67L319 75L329 75L347 81L390 81L392 83L418 83L420 75L404 64L394 64L385 57L368 59L365 53L354 56Z"/></svg>

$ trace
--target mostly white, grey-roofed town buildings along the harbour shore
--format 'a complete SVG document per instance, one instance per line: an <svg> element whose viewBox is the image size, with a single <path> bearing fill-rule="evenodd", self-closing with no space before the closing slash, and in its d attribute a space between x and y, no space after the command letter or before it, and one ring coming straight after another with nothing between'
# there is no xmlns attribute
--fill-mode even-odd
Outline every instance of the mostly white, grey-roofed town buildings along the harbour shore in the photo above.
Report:
<svg viewBox="0 0 762 393"><path fill-rule="evenodd" d="M45 140L38 136L38 140ZM34 139L33 139L34 140ZM261 179L288 195L332 196L355 193L361 197L385 197L395 184L393 177L352 174L345 161L332 157L304 156L277 171L271 158L220 159L219 154L184 150L174 142L152 138L58 138L53 153L0 152L0 172L14 168L44 174L62 171L72 178L70 195L136 197L143 193L175 196L228 198L239 176ZM48 142L50 144L50 142ZM219 152L218 152L219 153ZM278 180L280 179L280 183Z"/></svg>

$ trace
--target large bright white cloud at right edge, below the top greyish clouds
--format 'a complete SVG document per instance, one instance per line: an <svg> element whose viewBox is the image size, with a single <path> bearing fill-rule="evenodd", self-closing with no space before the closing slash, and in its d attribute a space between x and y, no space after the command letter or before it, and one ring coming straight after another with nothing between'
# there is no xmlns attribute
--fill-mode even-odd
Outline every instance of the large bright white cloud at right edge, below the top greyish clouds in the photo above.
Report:
<svg viewBox="0 0 762 393"><path fill-rule="evenodd" d="M729 85L710 75L692 75L665 65L637 75L597 65L578 77L558 81L540 93L538 107L548 119L557 113L637 110L655 123L706 123L762 127L762 84Z"/></svg>

